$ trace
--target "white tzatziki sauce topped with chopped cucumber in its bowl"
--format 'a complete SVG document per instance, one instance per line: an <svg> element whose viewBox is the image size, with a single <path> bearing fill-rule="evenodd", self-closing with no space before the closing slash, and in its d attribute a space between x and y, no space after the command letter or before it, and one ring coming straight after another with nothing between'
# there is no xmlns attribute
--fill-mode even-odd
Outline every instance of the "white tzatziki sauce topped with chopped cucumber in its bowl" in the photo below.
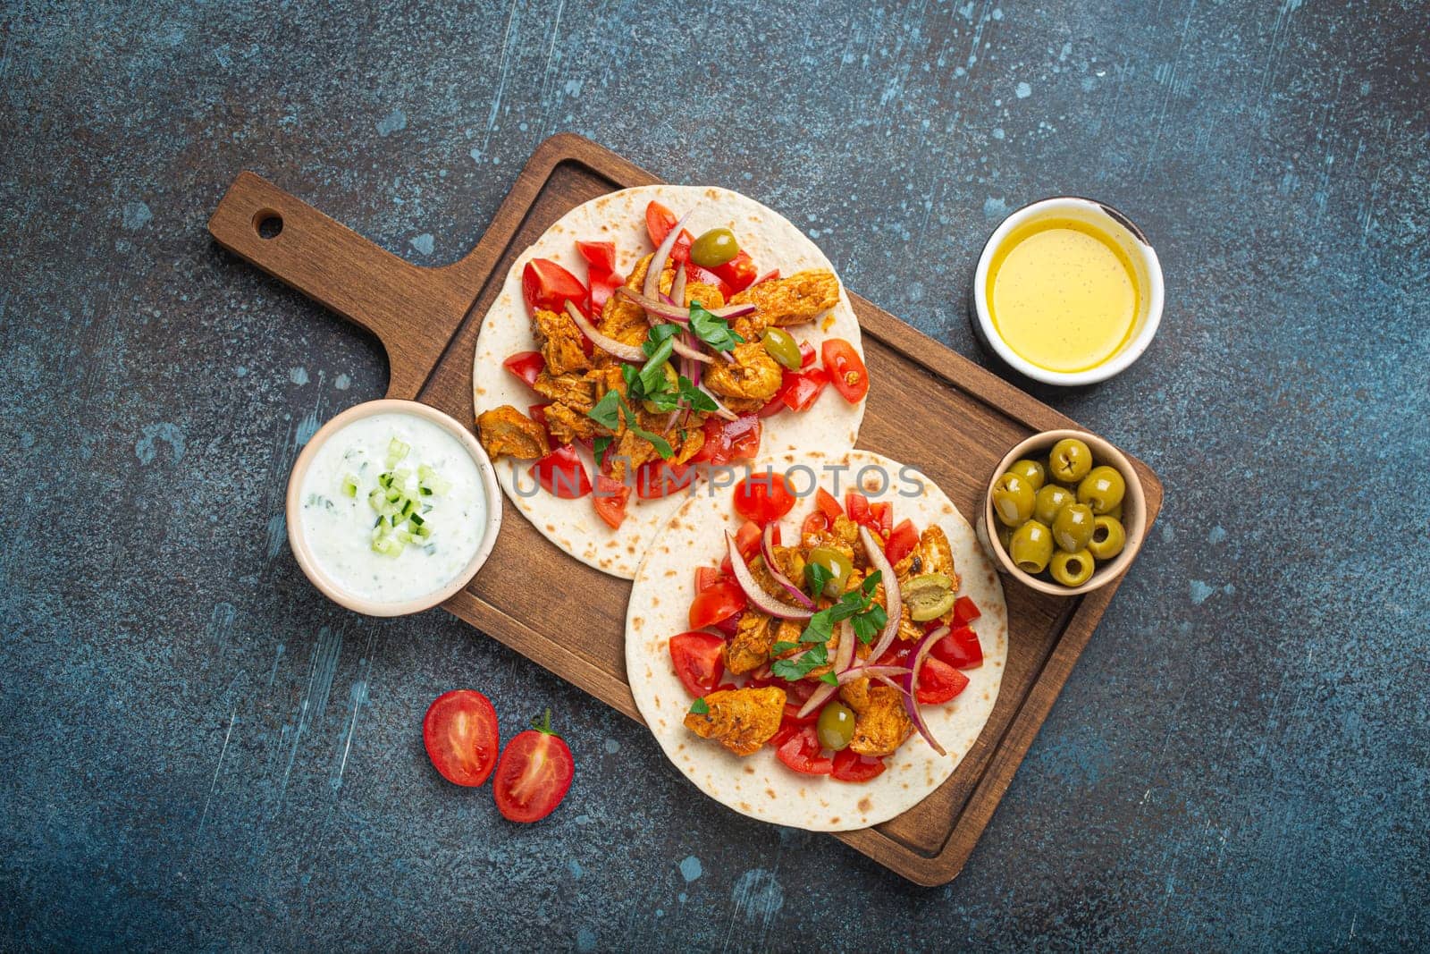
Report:
<svg viewBox="0 0 1430 954"><path fill-rule="evenodd" d="M416 415L378 413L317 448L303 476L302 531L337 588L406 602L442 589L470 562L488 505L460 441Z"/></svg>

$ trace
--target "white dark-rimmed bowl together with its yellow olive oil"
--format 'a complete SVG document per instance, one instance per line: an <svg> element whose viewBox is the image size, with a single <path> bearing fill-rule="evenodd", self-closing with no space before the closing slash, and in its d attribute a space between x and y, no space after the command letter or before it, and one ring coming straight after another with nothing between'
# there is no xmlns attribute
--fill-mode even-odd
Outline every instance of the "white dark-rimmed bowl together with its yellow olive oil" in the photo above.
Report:
<svg viewBox="0 0 1430 954"><path fill-rule="evenodd" d="M1157 252L1127 216L1060 196L1004 219L968 297L974 330L1014 370L1077 386L1107 380L1147 350L1163 290Z"/></svg>

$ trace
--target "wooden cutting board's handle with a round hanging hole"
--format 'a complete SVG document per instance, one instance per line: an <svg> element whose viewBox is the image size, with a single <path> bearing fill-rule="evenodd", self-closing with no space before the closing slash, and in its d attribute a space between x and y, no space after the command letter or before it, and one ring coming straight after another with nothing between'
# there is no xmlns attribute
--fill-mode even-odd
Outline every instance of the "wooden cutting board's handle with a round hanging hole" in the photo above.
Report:
<svg viewBox="0 0 1430 954"><path fill-rule="evenodd" d="M440 269L405 262L252 172L229 186L209 232L376 335L388 350L389 398L418 396L478 292L472 262Z"/></svg>

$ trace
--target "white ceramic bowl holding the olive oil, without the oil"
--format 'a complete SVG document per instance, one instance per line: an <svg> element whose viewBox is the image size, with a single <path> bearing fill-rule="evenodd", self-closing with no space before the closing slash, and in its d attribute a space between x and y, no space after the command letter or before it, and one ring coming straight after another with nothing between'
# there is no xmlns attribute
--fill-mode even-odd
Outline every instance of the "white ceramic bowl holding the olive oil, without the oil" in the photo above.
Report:
<svg viewBox="0 0 1430 954"><path fill-rule="evenodd" d="M1138 280L1143 287L1147 289L1128 342L1123 345L1121 350L1104 360L1101 365L1097 368L1088 368L1087 370L1048 370L1047 368L1038 368L1037 365L1028 362L1025 358L1021 358L1015 350L1012 350L1012 348L1010 348L1008 343L998 335L998 329L992 325L992 316L988 313L988 266L992 262L994 252L1000 245L1002 245L1002 240L1008 236L1008 233L1018 226L1034 219L1051 217L1087 222L1108 235L1114 242L1127 250L1127 255L1133 262L1133 267L1137 269ZM1157 333L1157 326L1161 325L1163 295L1164 286L1161 263L1157 260L1157 252L1153 250L1151 243L1147 240L1147 236L1143 235L1141 229L1134 226L1131 220L1117 209L1101 202L1080 199L1077 196L1042 199L1018 209L1004 219L1002 225L994 229L988 242L984 243L982 253L978 256L978 267L974 272L972 287L968 289L971 309L975 318L974 330L978 333L978 338L982 339L984 345L991 348L994 353L1004 359L1014 370L1027 375L1034 380L1064 386L1093 385L1100 380L1107 380L1113 375L1121 373L1134 360L1137 360L1141 353L1147 350L1147 345L1151 343L1153 336Z"/></svg>

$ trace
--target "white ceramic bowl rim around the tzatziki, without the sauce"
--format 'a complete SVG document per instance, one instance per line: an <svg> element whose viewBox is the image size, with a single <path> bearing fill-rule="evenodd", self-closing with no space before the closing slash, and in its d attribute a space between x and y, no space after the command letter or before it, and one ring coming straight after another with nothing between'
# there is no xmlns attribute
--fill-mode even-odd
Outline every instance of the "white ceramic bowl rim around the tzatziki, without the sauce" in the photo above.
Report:
<svg viewBox="0 0 1430 954"><path fill-rule="evenodd" d="M433 589L432 592L423 594L415 599L400 602L365 599L343 589L323 572L323 568L313 556L312 548L307 545L307 539L303 536L303 476L307 473L307 468L313 462L313 458L317 456L317 449L323 446L325 441L332 438L353 421L370 418L372 415L379 413L415 415L430 421L450 433L458 439L458 443L460 443L466 452L472 455L472 461L476 463L476 469L482 475L482 492L486 493L486 528L482 531L482 539L476 546L476 552L466 562L466 566L463 566L462 571L440 589ZM475 576L476 571L482 568L486 558L492 555L492 546L496 545L496 533L500 528L502 491L496 483L496 471L492 468L492 461L486 456L486 451L482 449L482 445L478 443L472 432L459 425L455 418L442 413L436 408L429 408L428 405L418 403L415 400L385 398L382 400L369 400L342 412L319 428L317 433L309 439L307 446L303 448L303 452L297 455L297 461L293 462L293 472L287 478L287 545L293 549L293 556L297 559L297 565L303 568L303 575L306 575L307 579L333 602L369 616L405 616L408 614L430 609L432 606L446 602L455 596L458 591L472 581L472 576Z"/></svg>

